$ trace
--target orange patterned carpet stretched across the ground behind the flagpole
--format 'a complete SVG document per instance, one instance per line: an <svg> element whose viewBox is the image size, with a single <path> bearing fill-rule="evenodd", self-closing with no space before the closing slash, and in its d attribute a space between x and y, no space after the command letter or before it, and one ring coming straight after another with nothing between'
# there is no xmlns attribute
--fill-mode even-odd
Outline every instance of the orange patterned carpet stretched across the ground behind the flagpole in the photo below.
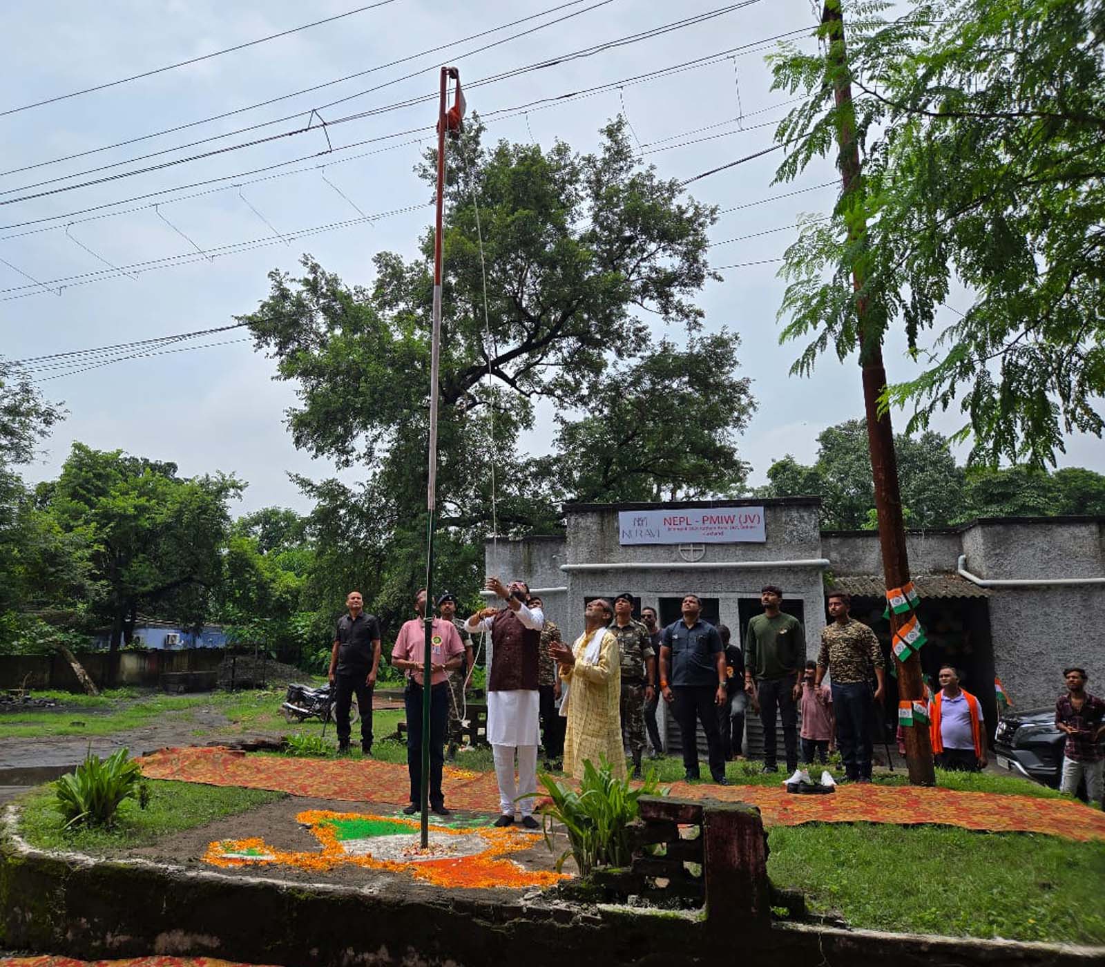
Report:
<svg viewBox="0 0 1105 967"><path fill-rule="evenodd" d="M160 749L139 759L151 779L274 789L293 796L350 802L409 800L407 767L375 759L292 759L218 747ZM494 812L493 772L445 769L445 802L453 809ZM1070 840L1105 840L1105 812L1067 799L959 792L912 786L843 786L832 796L791 796L782 786L692 786L671 795L757 806L765 826L803 822L936 823L991 832L1039 832Z"/></svg>

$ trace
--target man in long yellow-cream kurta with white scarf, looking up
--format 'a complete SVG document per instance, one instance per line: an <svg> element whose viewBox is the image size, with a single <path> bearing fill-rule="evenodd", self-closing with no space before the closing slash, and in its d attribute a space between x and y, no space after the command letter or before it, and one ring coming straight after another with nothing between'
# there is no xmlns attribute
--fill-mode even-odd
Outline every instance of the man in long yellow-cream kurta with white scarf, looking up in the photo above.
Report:
<svg viewBox="0 0 1105 967"><path fill-rule="evenodd" d="M587 630L569 649L549 645L568 684L568 730L564 739L564 770L583 778L583 763L596 769L610 764L614 778L625 778L625 753L621 732L621 659L618 639L607 626L613 609L601 598L585 612ZM562 712L561 712L562 714Z"/></svg>

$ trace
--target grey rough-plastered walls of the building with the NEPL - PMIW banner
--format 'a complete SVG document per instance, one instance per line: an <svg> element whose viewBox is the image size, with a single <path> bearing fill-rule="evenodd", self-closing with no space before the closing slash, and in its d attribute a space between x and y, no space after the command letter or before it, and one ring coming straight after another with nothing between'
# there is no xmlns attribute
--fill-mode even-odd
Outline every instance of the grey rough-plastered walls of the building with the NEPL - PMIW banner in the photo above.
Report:
<svg viewBox="0 0 1105 967"><path fill-rule="evenodd" d="M839 575L882 575L878 535L818 528L818 502L718 502L724 506L765 507L765 544L706 545L701 564L687 567L675 545L619 544L615 505L568 505L566 538L499 542L498 557L487 546L488 571L516 575L533 587L566 586L544 592L546 610L573 638L582 631L583 599L629 590L644 606L659 608L663 597L694 591L718 598L720 619L738 623L741 598L758 600L766 582L778 584L787 598L800 599L806 613L807 653L815 654L824 622L822 570L800 568L709 568L720 561L770 561L828 558ZM677 506L677 505L672 505ZM701 505L699 505L701 506ZM642 505L643 507L643 505ZM623 505L622 509L636 508ZM990 579L1105 577L1105 519L1021 518L978 521L907 537L915 574L955 574L959 555L967 570ZM560 570L562 564L607 563L610 570ZM665 564L661 570L633 564ZM624 567L624 566L629 567ZM1105 584L1084 587L993 588L987 602L994 668L1020 708L1050 705L1063 689L1062 670L1083 665L1090 689L1105 694ZM988 684L976 683L978 691Z"/></svg>

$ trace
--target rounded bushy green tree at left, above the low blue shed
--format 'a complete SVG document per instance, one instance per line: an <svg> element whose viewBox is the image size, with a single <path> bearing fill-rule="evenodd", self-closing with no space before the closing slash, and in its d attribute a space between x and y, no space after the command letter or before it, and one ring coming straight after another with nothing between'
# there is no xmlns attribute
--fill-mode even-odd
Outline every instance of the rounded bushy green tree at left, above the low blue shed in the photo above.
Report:
<svg viewBox="0 0 1105 967"><path fill-rule="evenodd" d="M112 626L113 670L139 608L161 609L189 627L203 623L221 575L228 501L242 486L223 474L182 479L172 463L73 444L46 491L48 509L92 549L104 588L95 607Z"/></svg>

